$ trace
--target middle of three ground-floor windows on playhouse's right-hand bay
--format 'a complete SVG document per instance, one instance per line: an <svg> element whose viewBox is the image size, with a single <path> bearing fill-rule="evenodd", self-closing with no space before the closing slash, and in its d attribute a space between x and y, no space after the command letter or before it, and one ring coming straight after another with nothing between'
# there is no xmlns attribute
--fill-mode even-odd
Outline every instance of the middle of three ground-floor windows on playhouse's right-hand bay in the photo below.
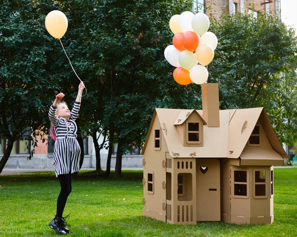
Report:
<svg viewBox="0 0 297 237"><path fill-rule="evenodd" d="M267 198L266 181L267 172L264 169L253 171L253 197Z"/></svg>

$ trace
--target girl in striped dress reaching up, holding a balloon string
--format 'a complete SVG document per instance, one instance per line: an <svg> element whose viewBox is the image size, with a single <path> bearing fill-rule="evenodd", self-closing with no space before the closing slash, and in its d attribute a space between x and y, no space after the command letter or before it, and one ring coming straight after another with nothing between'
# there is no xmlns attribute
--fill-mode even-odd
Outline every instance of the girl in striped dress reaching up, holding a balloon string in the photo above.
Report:
<svg viewBox="0 0 297 237"><path fill-rule="evenodd" d="M81 93L84 89L81 82L78 87L78 95L71 112L65 102L59 102L65 95L56 95L53 104L49 108L49 120L51 122L49 135L55 141L53 150L53 165L56 177L59 178L61 191L57 199L56 215L49 223L49 227L57 234L66 235L65 219L62 217L67 197L71 192L72 174L79 171L80 146L76 140L77 126L75 120L81 102Z"/></svg>

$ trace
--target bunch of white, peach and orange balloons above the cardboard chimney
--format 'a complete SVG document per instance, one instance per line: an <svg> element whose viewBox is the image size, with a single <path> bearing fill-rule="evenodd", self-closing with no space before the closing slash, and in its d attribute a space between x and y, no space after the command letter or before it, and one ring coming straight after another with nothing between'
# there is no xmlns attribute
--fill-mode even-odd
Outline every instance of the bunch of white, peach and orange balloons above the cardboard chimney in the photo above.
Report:
<svg viewBox="0 0 297 237"><path fill-rule="evenodd" d="M174 34L173 45L165 48L164 56L176 67L174 80L181 85L205 83L208 78L205 66L212 61L218 44L215 34L207 32L208 16L202 12L194 15L191 11L185 11L172 16L169 27Z"/></svg>

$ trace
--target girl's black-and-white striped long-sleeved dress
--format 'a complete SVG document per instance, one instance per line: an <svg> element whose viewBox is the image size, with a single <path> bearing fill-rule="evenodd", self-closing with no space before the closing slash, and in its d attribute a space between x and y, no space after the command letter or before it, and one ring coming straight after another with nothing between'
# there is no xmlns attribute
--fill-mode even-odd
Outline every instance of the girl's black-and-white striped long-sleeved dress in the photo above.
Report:
<svg viewBox="0 0 297 237"><path fill-rule="evenodd" d="M55 127L57 137L53 149L53 165L56 177L79 171L81 149L76 140L77 126L75 123L79 107L80 103L75 101L68 120L56 116L56 107L51 105L49 108L49 120Z"/></svg>

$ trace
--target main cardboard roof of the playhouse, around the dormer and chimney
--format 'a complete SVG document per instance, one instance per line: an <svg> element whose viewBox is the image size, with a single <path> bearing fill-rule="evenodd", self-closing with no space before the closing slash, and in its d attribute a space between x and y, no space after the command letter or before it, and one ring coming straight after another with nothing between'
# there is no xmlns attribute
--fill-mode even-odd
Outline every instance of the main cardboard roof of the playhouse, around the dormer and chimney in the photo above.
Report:
<svg viewBox="0 0 297 237"><path fill-rule="evenodd" d="M271 127L268 116L263 107L248 109L219 110L220 127L203 126L203 146L183 146L178 130L174 124L181 124L193 110L156 108L151 120L145 145L142 150L144 154L152 123L157 115L160 125L164 123L167 135L162 130L162 136L166 141L169 154L179 153L178 157L191 158L190 154L196 153L200 158L239 158L247 144L247 141L256 125L258 119L271 143L272 148L283 158L288 158L281 143ZM202 119L202 110L196 110ZM187 116L189 117L189 115ZM203 124L204 124L204 120ZM247 121L247 122L246 122ZM244 157L245 159L245 157Z"/></svg>

